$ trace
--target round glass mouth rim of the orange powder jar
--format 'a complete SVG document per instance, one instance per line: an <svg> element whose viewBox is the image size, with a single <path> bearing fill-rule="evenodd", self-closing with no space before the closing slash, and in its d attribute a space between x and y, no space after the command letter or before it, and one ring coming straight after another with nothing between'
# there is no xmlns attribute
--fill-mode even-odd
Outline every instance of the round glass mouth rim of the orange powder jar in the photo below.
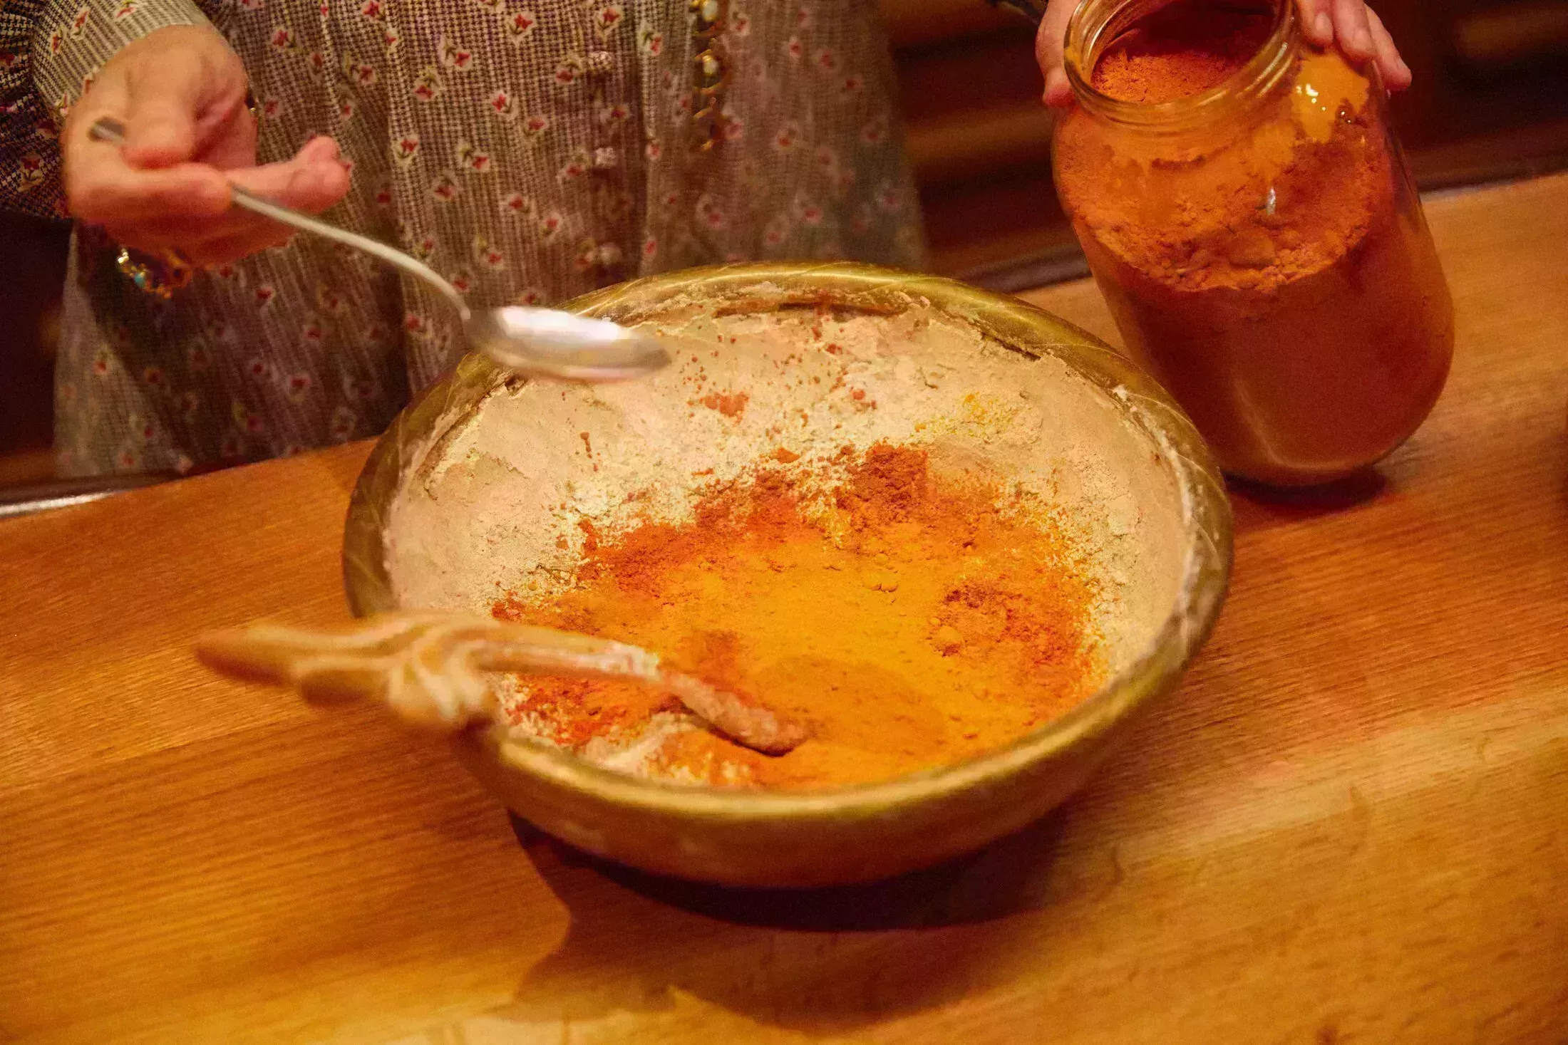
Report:
<svg viewBox="0 0 1568 1045"><path fill-rule="evenodd" d="M1096 89L1093 72L1105 49L1132 25L1170 3L1171 0L1083 0L1073 11L1063 47L1063 69L1073 86L1073 97L1085 111L1138 130L1181 132L1267 97L1290 69L1300 45L1295 2L1272 0L1275 19L1269 39L1223 83L1170 102L1127 102Z"/></svg>

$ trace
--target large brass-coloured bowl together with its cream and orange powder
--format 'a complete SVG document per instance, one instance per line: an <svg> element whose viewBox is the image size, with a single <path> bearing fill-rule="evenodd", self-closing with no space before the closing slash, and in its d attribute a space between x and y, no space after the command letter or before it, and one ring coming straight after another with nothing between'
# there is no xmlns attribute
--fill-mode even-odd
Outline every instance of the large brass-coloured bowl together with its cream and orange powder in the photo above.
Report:
<svg viewBox="0 0 1568 1045"><path fill-rule="evenodd" d="M1027 824L1168 689L1229 514L1163 392L1018 301L864 266L734 266L574 302L654 334L638 382L467 360L367 464L356 611L654 649L809 735L764 755L627 683L500 677L463 760L651 871L866 880Z"/></svg>

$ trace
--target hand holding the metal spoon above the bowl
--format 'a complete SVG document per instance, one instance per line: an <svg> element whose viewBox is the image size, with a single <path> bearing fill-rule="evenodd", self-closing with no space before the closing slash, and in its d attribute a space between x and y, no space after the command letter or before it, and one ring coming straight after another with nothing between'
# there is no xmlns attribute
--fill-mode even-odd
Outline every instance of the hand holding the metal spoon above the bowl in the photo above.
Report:
<svg viewBox="0 0 1568 1045"><path fill-rule="evenodd" d="M193 265L287 243L287 227L229 208L230 182L318 213L348 191L348 171L331 138L256 166L256 118L245 96L238 55L210 28L162 28L121 49L61 133L71 213L124 246L176 249ZM88 136L102 116L124 124L124 146Z"/></svg>

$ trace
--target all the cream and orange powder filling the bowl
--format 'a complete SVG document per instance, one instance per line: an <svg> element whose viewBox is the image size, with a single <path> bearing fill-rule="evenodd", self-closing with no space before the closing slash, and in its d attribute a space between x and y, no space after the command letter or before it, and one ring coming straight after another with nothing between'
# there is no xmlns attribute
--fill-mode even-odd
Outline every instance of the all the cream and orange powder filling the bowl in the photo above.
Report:
<svg viewBox="0 0 1568 1045"><path fill-rule="evenodd" d="M397 605L633 642L811 738L768 757L640 688L503 677L514 738L704 786L887 780L1060 718L1182 598L1168 457L1063 360L920 301L638 321L674 365L497 382L409 453Z"/></svg>

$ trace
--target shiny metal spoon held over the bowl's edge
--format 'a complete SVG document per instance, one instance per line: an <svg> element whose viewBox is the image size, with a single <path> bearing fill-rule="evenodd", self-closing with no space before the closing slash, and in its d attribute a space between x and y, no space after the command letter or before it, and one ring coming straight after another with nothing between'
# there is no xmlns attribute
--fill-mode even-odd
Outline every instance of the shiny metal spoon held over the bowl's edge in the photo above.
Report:
<svg viewBox="0 0 1568 1045"><path fill-rule="evenodd" d="M88 135L94 141L125 144L124 124L108 116L93 124ZM610 320L522 306L474 312L452 284L419 259L358 232L279 207L238 185L230 185L229 190L237 207L356 248L425 280L458 310L469 345L506 370L560 381L624 381L651 374L671 362L670 353L652 337Z"/></svg>

